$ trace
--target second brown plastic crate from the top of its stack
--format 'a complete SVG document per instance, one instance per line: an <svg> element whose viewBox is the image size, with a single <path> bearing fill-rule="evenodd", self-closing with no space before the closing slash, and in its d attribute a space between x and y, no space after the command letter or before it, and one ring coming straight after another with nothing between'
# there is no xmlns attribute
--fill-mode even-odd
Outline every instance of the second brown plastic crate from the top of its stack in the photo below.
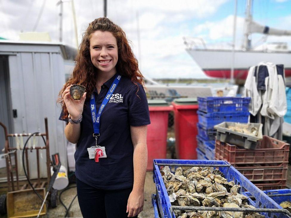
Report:
<svg viewBox="0 0 291 218"><path fill-rule="evenodd" d="M288 162L272 165L273 164L250 164L249 166L238 165L234 167L252 182L286 180Z"/></svg>

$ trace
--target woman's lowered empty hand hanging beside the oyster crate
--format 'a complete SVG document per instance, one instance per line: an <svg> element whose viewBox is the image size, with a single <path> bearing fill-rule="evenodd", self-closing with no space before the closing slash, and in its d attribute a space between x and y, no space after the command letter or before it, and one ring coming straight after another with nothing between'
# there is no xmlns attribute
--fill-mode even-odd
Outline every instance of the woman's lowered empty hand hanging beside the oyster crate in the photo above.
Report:
<svg viewBox="0 0 291 218"><path fill-rule="evenodd" d="M126 213L127 217L135 217L143 211L144 196L143 191L132 190L127 200Z"/></svg>

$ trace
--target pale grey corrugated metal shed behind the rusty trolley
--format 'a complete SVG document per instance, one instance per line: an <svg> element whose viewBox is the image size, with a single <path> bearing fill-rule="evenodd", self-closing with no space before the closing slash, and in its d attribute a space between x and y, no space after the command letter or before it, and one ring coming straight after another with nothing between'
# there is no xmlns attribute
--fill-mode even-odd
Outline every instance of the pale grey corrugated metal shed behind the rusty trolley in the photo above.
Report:
<svg viewBox="0 0 291 218"><path fill-rule="evenodd" d="M10 117L12 133L45 132L47 117L50 155L59 152L64 166L67 166L65 124L58 120L61 108L56 101L65 83L64 60L73 60L75 55L76 49L62 44L0 41L0 56L8 61L10 90L6 95L11 105L7 103L7 110L17 110L17 117ZM5 72L0 70L1 73ZM43 144L42 140L38 142ZM16 147L15 141L13 147ZM45 177L45 152L42 156L41 174ZM35 153L30 153L29 158L31 177L37 177ZM22 166L19 170L23 172Z"/></svg>

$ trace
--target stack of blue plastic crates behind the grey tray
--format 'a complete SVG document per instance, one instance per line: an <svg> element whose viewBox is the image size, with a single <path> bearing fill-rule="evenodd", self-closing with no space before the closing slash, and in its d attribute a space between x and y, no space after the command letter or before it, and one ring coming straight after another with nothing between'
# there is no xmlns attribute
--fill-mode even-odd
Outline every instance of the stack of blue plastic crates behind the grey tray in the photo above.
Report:
<svg viewBox="0 0 291 218"><path fill-rule="evenodd" d="M222 122L247 123L250 98L198 97L197 159L215 160L214 126Z"/></svg>

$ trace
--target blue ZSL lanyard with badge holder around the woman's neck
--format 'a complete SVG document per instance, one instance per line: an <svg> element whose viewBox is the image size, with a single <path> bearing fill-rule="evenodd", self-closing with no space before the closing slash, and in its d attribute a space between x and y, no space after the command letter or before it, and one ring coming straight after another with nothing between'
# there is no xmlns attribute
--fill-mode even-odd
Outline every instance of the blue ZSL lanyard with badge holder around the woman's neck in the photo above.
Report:
<svg viewBox="0 0 291 218"><path fill-rule="evenodd" d="M117 74L111 87L109 88L109 91L106 94L106 97L102 101L102 104L98 110L98 113L96 112L94 93L91 94L90 107L91 107L91 117L92 117L92 122L93 122L93 129L94 129L93 137L95 137L96 144L95 144L95 146L87 148L87 150L89 152L89 158L90 159L95 158L96 162L99 161L99 157L100 158L107 157L106 152L105 152L105 147L97 146L97 138L98 138L98 136L100 136L100 117L101 117L103 109L105 108L106 104L108 103L108 101L109 101L111 95L113 94L115 88L117 87L120 79L121 79L121 75Z"/></svg>

